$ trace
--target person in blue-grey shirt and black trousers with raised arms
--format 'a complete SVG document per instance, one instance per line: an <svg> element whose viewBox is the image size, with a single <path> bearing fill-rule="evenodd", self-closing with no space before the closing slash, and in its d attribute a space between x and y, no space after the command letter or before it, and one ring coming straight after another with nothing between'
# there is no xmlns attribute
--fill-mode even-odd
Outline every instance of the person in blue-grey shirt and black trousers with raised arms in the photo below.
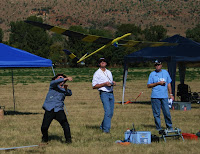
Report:
<svg viewBox="0 0 200 154"><path fill-rule="evenodd" d="M53 119L56 119L63 128L66 143L71 143L71 132L67 117L64 112L65 96L71 96L72 92L67 89L66 81L72 81L71 77L57 74L52 78L43 109L45 110L41 132L42 142L48 142L48 129Z"/></svg>

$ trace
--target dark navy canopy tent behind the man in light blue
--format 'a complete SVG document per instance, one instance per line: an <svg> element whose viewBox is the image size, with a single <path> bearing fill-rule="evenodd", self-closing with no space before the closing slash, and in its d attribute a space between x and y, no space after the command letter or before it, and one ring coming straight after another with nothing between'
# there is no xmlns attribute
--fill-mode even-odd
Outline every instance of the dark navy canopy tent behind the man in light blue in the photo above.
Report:
<svg viewBox="0 0 200 154"><path fill-rule="evenodd" d="M200 44L180 35L174 35L162 42L178 43L176 46L148 47L133 52L124 57L124 74L123 74L123 95L124 102L125 85L128 74L128 64L143 61L155 61L159 59L167 62L168 71L172 78L172 92L175 96L175 76L176 64L179 63L180 82L184 83L185 79L185 62L200 61Z"/></svg>

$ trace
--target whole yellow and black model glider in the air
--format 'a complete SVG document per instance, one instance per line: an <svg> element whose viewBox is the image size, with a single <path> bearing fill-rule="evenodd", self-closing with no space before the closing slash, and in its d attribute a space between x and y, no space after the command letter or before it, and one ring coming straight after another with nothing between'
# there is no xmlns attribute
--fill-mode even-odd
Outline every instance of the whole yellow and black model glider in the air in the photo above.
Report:
<svg viewBox="0 0 200 154"><path fill-rule="evenodd" d="M84 42L90 42L90 43L97 43L97 44L103 44L103 46L99 49L97 49L96 51L90 53L90 54L85 54L83 57L81 57L80 59L78 59L73 53L69 52L68 50L64 50L64 52L70 56L70 58L74 59L75 61L77 61L77 63L85 60L86 58L92 56L93 54L101 51L102 49L107 48L110 45L114 45L114 46L124 46L124 47L159 47L159 46L175 46L177 45L177 43L168 43L168 42L149 42L149 41L134 41L134 40L123 40L125 37L130 36L131 33L127 33L121 37L117 37L115 39L110 39L110 38L105 38L105 37L101 37L101 36L97 36L97 35L87 35L87 34L82 34L82 33L78 33L78 32L74 32L71 30L67 30L64 28L60 28L57 26L51 26L48 24L43 24L40 22L35 22L35 21L25 21L28 24L43 28L45 30L49 30L61 35L65 35L71 38L75 38L78 39L80 41L84 41ZM119 43L118 43L119 42Z"/></svg>

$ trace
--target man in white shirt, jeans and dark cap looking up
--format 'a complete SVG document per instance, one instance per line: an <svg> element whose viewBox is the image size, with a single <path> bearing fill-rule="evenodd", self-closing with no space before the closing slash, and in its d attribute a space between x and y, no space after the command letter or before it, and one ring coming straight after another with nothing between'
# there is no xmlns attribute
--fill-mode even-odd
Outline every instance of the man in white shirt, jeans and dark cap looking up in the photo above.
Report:
<svg viewBox="0 0 200 154"><path fill-rule="evenodd" d="M116 83L113 81L112 73L106 69L106 66L107 62L105 58L100 58L99 69L93 75L92 87L93 89L98 89L104 108L104 119L101 123L100 129L104 133L109 133L115 101L113 86L115 86Z"/></svg>

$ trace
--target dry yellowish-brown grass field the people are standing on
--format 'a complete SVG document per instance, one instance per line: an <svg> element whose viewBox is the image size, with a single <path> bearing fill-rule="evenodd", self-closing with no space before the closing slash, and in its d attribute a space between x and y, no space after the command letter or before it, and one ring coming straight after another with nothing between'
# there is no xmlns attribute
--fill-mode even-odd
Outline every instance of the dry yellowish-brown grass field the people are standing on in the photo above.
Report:
<svg viewBox="0 0 200 154"><path fill-rule="evenodd" d="M146 80L127 82L125 100L134 101L140 92L143 94L137 101L149 101L151 90L146 88ZM199 90L200 81L187 82L193 91ZM198 86L197 86L198 85ZM49 83L15 84L16 112L13 112L12 85L0 85L1 106L5 106L4 118L0 120L0 148L38 145L41 142L40 127L44 110L42 104L49 88ZM61 126L53 121L49 128L50 141L48 145L1 151L1 153L199 153L199 141L175 140L167 138L167 142L152 142L151 144L131 144L122 146L116 140L124 139L124 132L135 124L137 131L155 130L151 105L115 104L112 119L111 134L103 134L99 125L103 118L103 107L97 90L93 90L91 82L70 82L69 88L73 95L66 97L65 105L68 121L71 127L73 143L64 143ZM114 89L115 101L121 101L122 82L117 82ZM200 129L200 105L192 104L188 111L172 110L173 126L185 133L197 133ZM162 126L165 127L161 114Z"/></svg>

